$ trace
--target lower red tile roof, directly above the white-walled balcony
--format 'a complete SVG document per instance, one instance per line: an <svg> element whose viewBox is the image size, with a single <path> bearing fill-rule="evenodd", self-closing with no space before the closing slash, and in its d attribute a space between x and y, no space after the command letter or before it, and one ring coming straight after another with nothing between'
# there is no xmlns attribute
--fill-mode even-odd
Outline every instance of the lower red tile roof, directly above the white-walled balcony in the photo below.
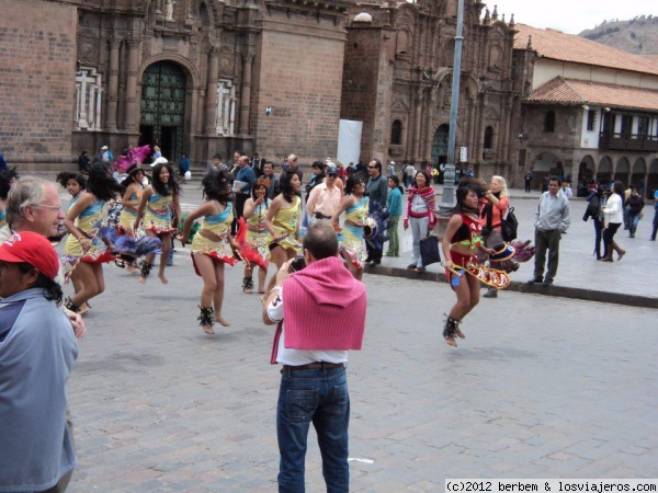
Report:
<svg viewBox="0 0 658 493"><path fill-rule="evenodd" d="M525 99L532 103L592 104L616 108L658 111L658 91L556 77Z"/></svg>

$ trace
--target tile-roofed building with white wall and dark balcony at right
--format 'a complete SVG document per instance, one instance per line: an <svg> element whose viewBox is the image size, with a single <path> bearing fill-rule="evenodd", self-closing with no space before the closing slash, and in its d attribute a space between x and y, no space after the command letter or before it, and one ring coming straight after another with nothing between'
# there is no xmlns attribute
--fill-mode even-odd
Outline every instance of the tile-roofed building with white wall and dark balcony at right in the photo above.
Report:
<svg viewBox="0 0 658 493"><path fill-rule="evenodd" d="M658 187L658 67L579 36L515 26L518 169Z"/></svg>

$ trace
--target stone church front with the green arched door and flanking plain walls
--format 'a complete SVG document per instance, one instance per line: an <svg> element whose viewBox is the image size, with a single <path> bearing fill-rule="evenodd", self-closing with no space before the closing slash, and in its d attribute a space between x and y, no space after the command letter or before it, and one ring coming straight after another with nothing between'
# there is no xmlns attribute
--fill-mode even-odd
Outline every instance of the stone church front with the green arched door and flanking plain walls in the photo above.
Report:
<svg viewBox="0 0 658 493"><path fill-rule="evenodd" d="M0 151L333 156L349 2L0 0Z"/></svg>

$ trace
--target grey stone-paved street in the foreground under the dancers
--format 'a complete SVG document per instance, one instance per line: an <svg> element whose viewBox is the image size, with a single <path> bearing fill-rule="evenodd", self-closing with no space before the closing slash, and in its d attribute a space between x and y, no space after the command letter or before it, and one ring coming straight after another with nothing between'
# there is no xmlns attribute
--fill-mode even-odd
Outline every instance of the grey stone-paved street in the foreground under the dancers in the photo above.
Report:
<svg viewBox="0 0 658 493"><path fill-rule="evenodd" d="M227 270L205 335L188 252L169 285L113 266L68 385L79 466L69 491L276 490L277 367L257 295ZM620 264L621 265L621 264ZM616 267L616 264L613 265ZM510 291L441 337L445 284L364 276L350 355L351 491L436 492L445 478L656 478L656 311ZM70 286L67 286L70 290ZM324 490L309 437L307 485Z"/></svg>

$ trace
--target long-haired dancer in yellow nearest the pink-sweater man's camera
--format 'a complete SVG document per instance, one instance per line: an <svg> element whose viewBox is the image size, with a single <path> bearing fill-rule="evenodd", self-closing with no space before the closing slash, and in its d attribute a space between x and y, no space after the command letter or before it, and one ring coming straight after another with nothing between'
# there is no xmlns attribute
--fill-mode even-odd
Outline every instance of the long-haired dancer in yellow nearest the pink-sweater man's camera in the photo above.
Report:
<svg viewBox="0 0 658 493"><path fill-rule="evenodd" d="M272 236L270 251L276 268L302 252L302 245L297 241L302 217L302 199L297 194L302 180L296 170L286 171L279 179L279 184L281 193L270 204L265 218L265 229Z"/></svg>

